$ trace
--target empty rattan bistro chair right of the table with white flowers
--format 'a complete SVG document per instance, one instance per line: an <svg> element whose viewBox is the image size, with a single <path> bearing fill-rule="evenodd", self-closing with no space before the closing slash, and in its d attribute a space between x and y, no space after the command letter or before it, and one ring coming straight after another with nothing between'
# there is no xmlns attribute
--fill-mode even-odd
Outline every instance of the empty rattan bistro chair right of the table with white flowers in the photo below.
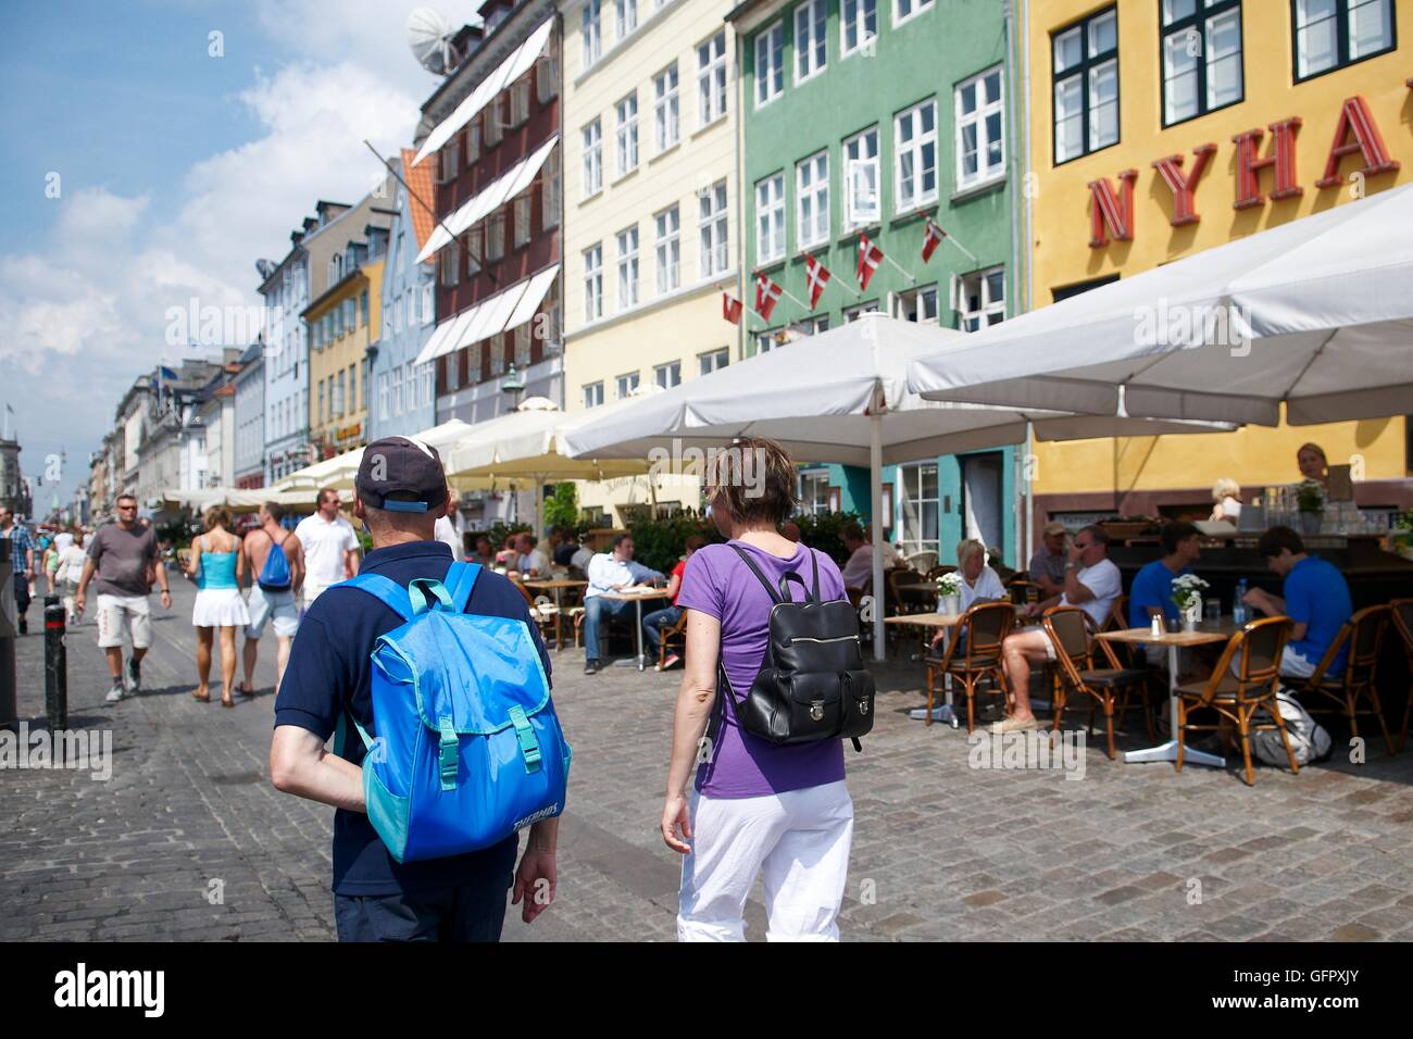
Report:
<svg viewBox="0 0 1413 1039"><path fill-rule="evenodd" d="M1251 734L1260 729L1280 729L1280 742L1286 745L1291 773L1300 772L1296 752L1290 746L1286 721L1280 717L1276 691L1280 688L1280 654L1290 638L1289 616L1267 616L1252 621L1236 632L1222 650L1222 657L1204 681L1190 681L1177 687L1177 770L1183 770L1183 751L1187 732L1225 731L1215 725L1193 725L1187 721L1188 711L1210 707L1224 720L1236 724L1241 738L1242 759L1246 763L1246 786L1256 783L1251 765ZM1234 666L1235 664L1235 666ZM1273 721L1252 725L1256 711L1266 711Z"/></svg>

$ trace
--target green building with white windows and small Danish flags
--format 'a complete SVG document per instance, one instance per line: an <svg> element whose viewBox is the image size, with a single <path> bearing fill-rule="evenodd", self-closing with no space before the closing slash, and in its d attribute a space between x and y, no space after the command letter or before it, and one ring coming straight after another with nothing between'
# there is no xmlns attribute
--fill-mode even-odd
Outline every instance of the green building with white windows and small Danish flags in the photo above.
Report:
<svg viewBox="0 0 1413 1039"><path fill-rule="evenodd" d="M1023 122L1007 10L1006 0L746 0L726 16L740 69L747 356L870 310L962 331L1019 310ZM950 240L924 262L928 218ZM862 236L887 259L858 291ZM812 310L807 253L832 276ZM769 321L752 310L759 274L786 293ZM948 564L959 539L981 537L1016 564L1017 454L887 466L886 536ZM801 493L810 510L869 513L868 472L853 466L803 465Z"/></svg>

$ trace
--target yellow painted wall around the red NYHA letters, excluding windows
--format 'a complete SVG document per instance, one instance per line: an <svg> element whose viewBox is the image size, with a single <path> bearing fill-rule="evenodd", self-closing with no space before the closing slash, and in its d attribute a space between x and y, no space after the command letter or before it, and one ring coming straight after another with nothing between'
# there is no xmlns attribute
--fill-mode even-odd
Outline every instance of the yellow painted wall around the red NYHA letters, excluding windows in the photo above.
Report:
<svg viewBox="0 0 1413 1039"><path fill-rule="evenodd" d="M1317 188L1334 140L1340 110L1347 98L1362 96L1373 115L1396 172L1366 181L1369 194L1413 180L1413 0L1395 0L1397 49L1293 82L1291 16L1286 0L1245 0L1242 45L1245 99L1169 129L1161 124L1161 61L1159 0L1119 0L1119 143L1054 165L1054 96L1051 33L1104 10L1094 0L1029 0L1030 47L1030 168L1031 283L1034 307L1053 301L1051 290L1109 274L1130 277L1154 266L1286 223L1334 205L1354 201L1351 185ZM1299 116L1296 182L1299 198L1272 201L1236 211L1235 153L1232 137L1266 130L1259 154L1270 154L1269 126ZM1173 228L1171 195L1152 163L1171 154L1217 144L1195 188L1197 225ZM1341 172L1362 165L1358 154L1341 163ZM1122 170L1137 170L1133 191L1132 242L1111 242L1091 249L1089 181L1108 178L1118 187ZM1260 174L1262 191L1272 189L1270 168ZM1410 404L1413 410L1413 404ZM1036 493L1077 493L1119 489L1210 486L1219 476L1242 483L1293 482L1299 478L1296 450L1306 441L1325 448L1331 464L1362 459L1365 479L1399 479L1409 475L1405 457L1405 417L1381 421L1332 423L1266 428L1248 427L1231 434L1143 437L1037 445ZM1115 458L1118 457L1118 462ZM1358 465L1359 459L1355 459ZM1356 469L1358 471L1358 469Z"/></svg>

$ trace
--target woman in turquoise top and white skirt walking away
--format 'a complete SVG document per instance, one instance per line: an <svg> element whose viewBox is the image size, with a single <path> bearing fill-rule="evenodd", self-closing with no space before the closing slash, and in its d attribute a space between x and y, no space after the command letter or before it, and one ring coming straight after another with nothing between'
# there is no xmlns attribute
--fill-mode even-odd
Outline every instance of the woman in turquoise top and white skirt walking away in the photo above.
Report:
<svg viewBox="0 0 1413 1039"><path fill-rule="evenodd" d="M206 533L191 543L191 568L196 581L196 605L191 622L196 628L196 691L192 697L211 701L211 642L220 629L220 705L235 707L230 691L236 683L236 629L250 623L240 595L246 573L240 539L230 533L230 515L218 506L206 510Z"/></svg>

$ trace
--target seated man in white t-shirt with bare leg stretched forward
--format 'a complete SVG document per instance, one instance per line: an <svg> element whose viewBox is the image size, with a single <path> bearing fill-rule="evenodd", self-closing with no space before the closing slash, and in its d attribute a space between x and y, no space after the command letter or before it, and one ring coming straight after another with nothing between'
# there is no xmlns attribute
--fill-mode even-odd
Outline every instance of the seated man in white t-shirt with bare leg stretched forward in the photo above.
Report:
<svg viewBox="0 0 1413 1039"><path fill-rule="evenodd" d="M1078 606L1098 629L1109 616L1113 601L1123 592L1123 578L1109 558L1108 534L1098 524L1084 527L1074 539L1070 560L1064 570L1064 592L1037 602L1029 608L1036 616L1050 606ZM1002 664L1006 670L1006 684L1016 698L1016 710L1005 721L992 727L993 732L1020 732L1040 728L1030 711L1030 664L1031 662L1054 660L1056 650L1044 628L1027 628L1006 638L1002 643Z"/></svg>

